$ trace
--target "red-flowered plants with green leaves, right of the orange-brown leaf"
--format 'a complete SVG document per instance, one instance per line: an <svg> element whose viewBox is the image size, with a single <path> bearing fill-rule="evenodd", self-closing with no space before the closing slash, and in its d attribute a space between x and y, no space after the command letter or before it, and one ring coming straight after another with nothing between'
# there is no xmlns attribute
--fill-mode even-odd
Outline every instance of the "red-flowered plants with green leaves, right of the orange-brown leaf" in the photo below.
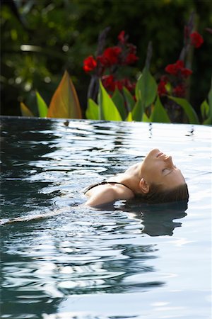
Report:
<svg viewBox="0 0 212 319"><path fill-rule="evenodd" d="M92 119L100 120L113 120L113 121L151 121L151 122L163 122L170 123L172 118L176 121L178 113L180 115L184 114L187 119L184 121L189 121L189 123L199 124L199 118L194 111L191 104L185 99L186 89L187 89L187 79L192 74L192 70L184 66L184 61L187 59L187 54L190 47L201 47L204 43L202 36L193 31L194 28L194 15L189 19L189 22L184 27L184 47L179 55L179 60L174 64L167 65L165 71L168 75L161 77L160 83L157 85L154 77L149 72L149 66L151 62L152 48L151 43L148 46L148 52L146 57L146 65L143 68L141 77L139 77L135 86L135 103L133 103L134 98L131 96L129 90L124 87L122 82L114 81L113 75L107 75L107 82L104 81L103 76L106 67L110 67L110 73L114 70L117 72L118 67L126 64L126 55L124 58L121 57L123 48L121 46L108 47L103 52L103 55L98 55L96 58L93 56L87 57L84 60L84 70L86 72L91 72L91 84L93 85L93 77L95 76L95 81L100 79L100 94L98 99L98 105L90 99L88 103L88 111L86 116ZM101 39L101 37L100 37ZM123 45L129 45L126 39L128 37L122 31L118 39ZM99 43L102 47L102 43ZM134 53L136 52L136 47L134 47ZM110 52L109 54L106 54ZM133 61L135 62L136 55L134 55ZM95 75L93 75L95 71ZM108 79L110 78L110 82ZM125 79L127 80L127 79ZM101 82L102 81L102 82ZM105 86L105 88L104 88ZM95 85L95 87L98 87ZM105 91L113 91L112 99ZM127 97L126 99L126 92ZM160 101L159 96L167 96L165 107ZM94 96L95 97L95 96ZM130 108L127 107L127 101L131 101ZM172 106L171 116L169 113L169 104ZM107 107L106 107L107 106ZM179 112L179 107L180 112ZM202 114L208 116L204 123L210 123L211 114L208 111L208 106L206 101L201 106ZM177 110L177 112L176 112ZM177 116L176 116L177 113ZM107 114L107 115L106 115ZM173 116L174 115L174 116Z"/></svg>

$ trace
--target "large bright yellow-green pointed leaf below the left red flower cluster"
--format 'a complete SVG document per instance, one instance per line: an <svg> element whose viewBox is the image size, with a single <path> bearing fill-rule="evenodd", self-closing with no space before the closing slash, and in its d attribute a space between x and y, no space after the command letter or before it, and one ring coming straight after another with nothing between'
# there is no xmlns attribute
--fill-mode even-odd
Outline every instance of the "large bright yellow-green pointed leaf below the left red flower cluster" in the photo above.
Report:
<svg viewBox="0 0 212 319"><path fill-rule="evenodd" d="M102 82L100 81L100 120L105 121L122 121L117 107L114 105L111 97L105 90Z"/></svg>

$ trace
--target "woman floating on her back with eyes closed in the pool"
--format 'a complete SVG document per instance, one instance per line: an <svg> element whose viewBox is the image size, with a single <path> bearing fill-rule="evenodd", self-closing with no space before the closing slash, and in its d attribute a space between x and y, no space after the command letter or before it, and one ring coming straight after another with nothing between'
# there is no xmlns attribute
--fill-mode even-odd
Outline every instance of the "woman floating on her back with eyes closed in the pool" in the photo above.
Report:
<svg viewBox="0 0 212 319"><path fill-rule="evenodd" d="M147 203L188 200L187 184L172 157L158 149L151 150L143 162L129 167L123 174L89 186L84 194L86 205L98 207L119 199L140 197Z"/></svg>

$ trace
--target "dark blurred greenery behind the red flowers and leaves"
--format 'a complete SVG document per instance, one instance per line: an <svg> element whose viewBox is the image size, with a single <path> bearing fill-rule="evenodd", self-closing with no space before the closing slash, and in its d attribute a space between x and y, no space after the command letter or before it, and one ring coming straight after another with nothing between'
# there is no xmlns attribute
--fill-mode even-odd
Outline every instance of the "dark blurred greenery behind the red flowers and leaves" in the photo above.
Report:
<svg viewBox="0 0 212 319"><path fill-rule="evenodd" d="M95 54L98 35L107 26L107 45L117 43L121 30L136 45L135 77L152 41L151 72L158 81L166 65L179 57L192 11L195 30L204 37L191 57L189 100L199 113L211 84L210 0L1 0L1 115L20 115L20 101L36 113L35 89L49 104L65 69L85 110L90 76L83 60Z"/></svg>

